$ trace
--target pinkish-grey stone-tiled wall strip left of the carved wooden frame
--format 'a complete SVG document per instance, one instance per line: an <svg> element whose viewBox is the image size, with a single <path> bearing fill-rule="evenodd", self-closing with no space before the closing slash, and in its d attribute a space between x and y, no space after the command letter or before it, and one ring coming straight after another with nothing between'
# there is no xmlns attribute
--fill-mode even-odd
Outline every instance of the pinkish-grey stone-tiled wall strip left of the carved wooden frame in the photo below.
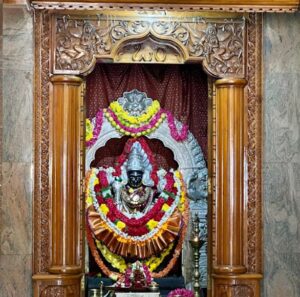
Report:
<svg viewBox="0 0 300 297"><path fill-rule="evenodd" d="M2 23L2 22L1 22ZM25 8L3 8L2 191L0 296L31 296L32 262L32 18Z"/></svg>

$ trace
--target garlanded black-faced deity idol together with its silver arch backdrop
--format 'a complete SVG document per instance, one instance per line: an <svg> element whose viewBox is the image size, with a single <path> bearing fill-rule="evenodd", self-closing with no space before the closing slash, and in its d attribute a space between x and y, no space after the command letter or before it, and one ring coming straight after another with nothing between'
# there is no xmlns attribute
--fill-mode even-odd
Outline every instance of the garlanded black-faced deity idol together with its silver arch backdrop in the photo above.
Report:
<svg viewBox="0 0 300 297"><path fill-rule="evenodd" d="M96 151L123 136L131 138L116 165L91 168ZM151 139L172 150L180 170L158 168L147 144ZM168 275L181 252L189 253L183 245L187 196L206 224L207 168L195 137L157 100L132 90L87 119L86 141L86 228L96 263L111 278L124 276L137 261L152 277ZM185 276L187 259L182 258ZM202 262L204 267L206 258Z"/></svg>

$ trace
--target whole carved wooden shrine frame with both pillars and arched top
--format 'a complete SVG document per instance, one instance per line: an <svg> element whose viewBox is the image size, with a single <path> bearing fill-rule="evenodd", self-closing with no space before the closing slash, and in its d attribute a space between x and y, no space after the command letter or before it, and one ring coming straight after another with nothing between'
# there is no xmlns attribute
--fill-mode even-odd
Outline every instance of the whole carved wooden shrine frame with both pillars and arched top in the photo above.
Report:
<svg viewBox="0 0 300 297"><path fill-rule="evenodd" d="M81 77L92 71L96 60L201 62L211 76L222 78L211 89L208 291L213 297L259 296L261 17L193 12L189 18L172 12L167 17L158 13L153 18L150 14L154 21L149 22L148 30L162 22L169 31L158 34L152 28L150 34L151 30L134 34L128 26L147 20L149 15L145 12L76 11L70 4L68 10L62 11L35 8L34 296L80 296L84 266L85 93ZM74 28L66 25L74 20ZM106 22L106 30L102 21ZM121 34L116 42L113 34L107 37L105 32L119 28L120 21L127 28L126 31L123 27L122 32L127 33ZM100 32L98 36L90 34L83 38L85 24L92 25L87 33ZM209 33L210 28L215 32ZM185 34L196 37L180 40L178 35L186 38ZM215 35L216 39L210 40ZM234 37L232 42L228 35ZM163 45L166 59L135 60L136 52L132 49L136 45L139 49L148 46L154 52ZM182 56L179 60L178 54Z"/></svg>

